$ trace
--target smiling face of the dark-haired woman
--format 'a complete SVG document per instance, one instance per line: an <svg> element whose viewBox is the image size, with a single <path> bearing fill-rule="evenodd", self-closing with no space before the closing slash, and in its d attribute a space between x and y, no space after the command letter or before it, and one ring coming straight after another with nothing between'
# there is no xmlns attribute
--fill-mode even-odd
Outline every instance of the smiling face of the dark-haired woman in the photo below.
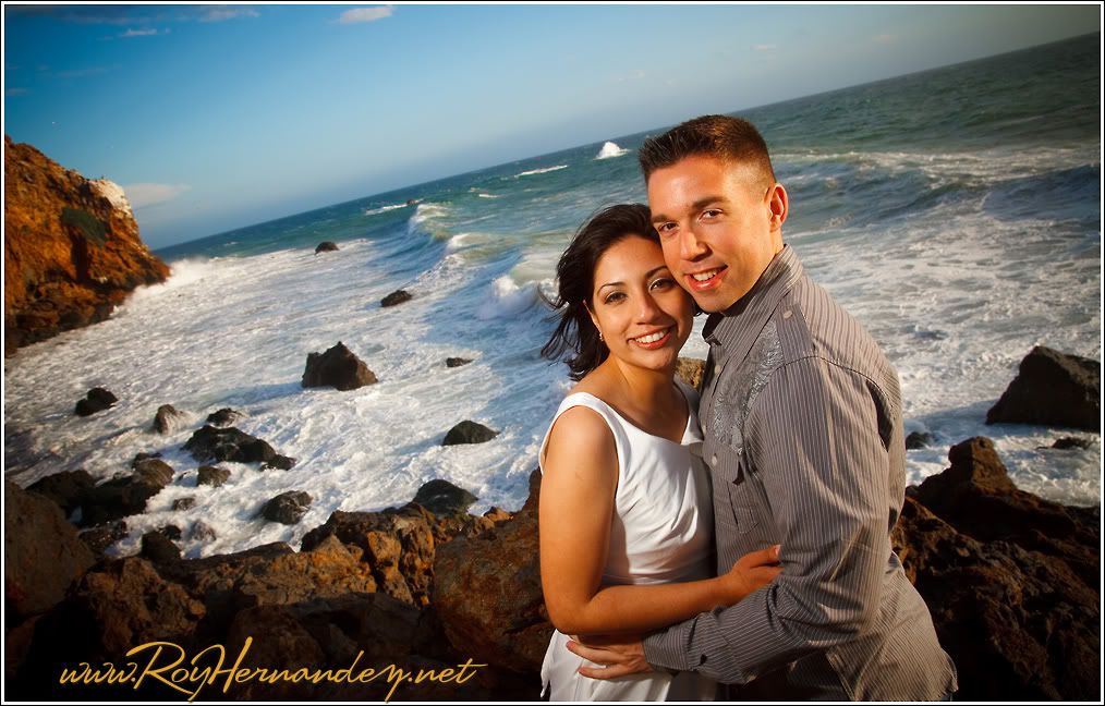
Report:
<svg viewBox="0 0 1105 706"><path fill-rule="evenodd" d="M591 320L611 356L650 370L674 366L693 317L693 299L675 284L657 243L630 235L599 257Z"/></svg>

